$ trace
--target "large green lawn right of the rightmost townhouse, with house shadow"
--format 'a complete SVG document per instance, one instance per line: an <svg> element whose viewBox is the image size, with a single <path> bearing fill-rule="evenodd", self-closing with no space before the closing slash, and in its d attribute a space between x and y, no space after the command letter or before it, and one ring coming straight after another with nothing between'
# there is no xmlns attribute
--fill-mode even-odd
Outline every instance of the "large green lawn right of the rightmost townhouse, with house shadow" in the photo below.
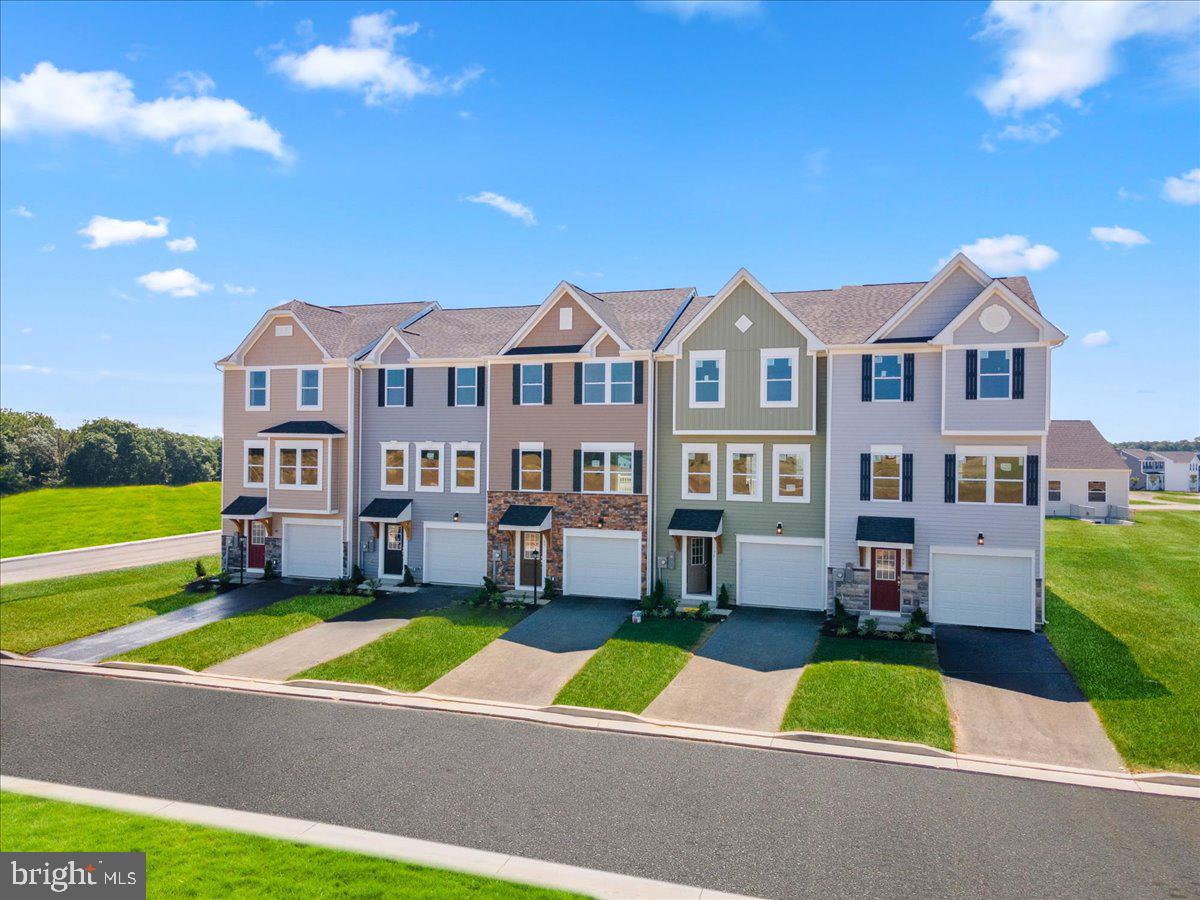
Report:
<svg viewBox="0 0 1200 900"><path fill-rule="evenodd" d="M1200 772L1200 515L1046 522L1046 635L1134 769Z"/></svg>

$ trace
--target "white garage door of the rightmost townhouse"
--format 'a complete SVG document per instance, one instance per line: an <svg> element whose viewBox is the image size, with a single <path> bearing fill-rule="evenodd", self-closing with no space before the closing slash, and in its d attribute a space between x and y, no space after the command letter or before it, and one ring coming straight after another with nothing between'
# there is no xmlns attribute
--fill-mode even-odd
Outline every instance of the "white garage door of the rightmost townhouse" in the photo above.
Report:
<svg viewBox="0 0 1200 900"><path fill-rule="evenodd" d="M949 625L1033 629L1033 559L934 551L930 618Z"/></svg>

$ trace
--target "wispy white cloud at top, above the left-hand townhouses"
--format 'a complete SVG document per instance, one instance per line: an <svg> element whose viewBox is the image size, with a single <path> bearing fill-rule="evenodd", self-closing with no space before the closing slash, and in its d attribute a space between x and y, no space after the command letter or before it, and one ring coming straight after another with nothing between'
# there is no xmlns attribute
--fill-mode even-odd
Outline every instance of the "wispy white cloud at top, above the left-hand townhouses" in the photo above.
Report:
<svg viewBox="0 0 1200 900"><path fill-rule="evenodd" d="M316 89L358 91L367 106L422 94L454 94L484 73L464 70L454 78L439 78L428 66L395 52L396 38L416 34L418 23L392 24L395 12L368 13L350 19L346 43L317 44L305 53L284 53L271 67L296 84Z"/></svg>

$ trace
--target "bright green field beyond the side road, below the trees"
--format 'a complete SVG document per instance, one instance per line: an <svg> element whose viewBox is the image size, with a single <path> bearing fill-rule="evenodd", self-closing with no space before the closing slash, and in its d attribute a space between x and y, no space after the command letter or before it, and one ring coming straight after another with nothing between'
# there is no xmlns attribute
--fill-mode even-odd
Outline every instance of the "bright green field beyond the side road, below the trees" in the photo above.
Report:
<svg viewBox="0 0 1200 900"><path fill-rule="evenodd" d="M221 527L221 482L46 487L0 497L0 557L95 547Z"/></svg>

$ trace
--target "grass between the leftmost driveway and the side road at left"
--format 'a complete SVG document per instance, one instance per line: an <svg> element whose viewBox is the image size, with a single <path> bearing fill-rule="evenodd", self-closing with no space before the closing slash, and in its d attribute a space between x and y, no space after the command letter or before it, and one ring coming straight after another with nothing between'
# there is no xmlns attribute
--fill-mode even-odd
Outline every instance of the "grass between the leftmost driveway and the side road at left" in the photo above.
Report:
<svg viewBox="0 0 1200 900"><path fill-rule="evenodd" d="M7 522L5 523L7 526ZM205 558L209 571L217 558ZM149 619L212 594L187 594L194 560L0 587L0 647L29 653Z"/></svg>

